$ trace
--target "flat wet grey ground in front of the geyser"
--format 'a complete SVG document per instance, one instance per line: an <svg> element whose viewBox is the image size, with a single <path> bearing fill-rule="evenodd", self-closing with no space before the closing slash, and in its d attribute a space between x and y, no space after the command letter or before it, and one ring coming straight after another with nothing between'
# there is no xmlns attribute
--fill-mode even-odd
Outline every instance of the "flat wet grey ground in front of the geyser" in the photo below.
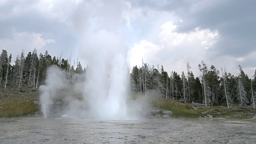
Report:
<svg viewBox="0 0 256 144"><path fill-rule="evenodd" d="M92 121L74 118L2 118L0 143L256 143L256 123L220 119Z"/></svg>

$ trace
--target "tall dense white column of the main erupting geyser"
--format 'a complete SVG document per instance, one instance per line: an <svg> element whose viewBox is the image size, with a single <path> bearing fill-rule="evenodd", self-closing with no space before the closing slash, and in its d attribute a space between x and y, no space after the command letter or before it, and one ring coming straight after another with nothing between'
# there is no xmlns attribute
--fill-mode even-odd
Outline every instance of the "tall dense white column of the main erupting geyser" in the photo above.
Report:
<svg viewBox="0 0 256 144"><path fill-rule="evenodd" d="M128 92L127 48L119 34L104 30L85 42L84 58L89 64L84 99L90 114L100 119L126 119Z"/></svg>

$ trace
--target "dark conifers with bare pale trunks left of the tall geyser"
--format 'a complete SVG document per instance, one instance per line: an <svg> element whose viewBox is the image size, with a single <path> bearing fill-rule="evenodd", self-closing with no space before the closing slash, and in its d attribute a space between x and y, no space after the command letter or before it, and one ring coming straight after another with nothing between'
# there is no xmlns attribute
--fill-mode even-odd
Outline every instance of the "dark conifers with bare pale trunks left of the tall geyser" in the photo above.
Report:
<svg viewBox="0 0 256 144"><path fill-rule="evenodd" d="M16 56L14 64L12 65L12 54L8 56L6 50L2 50L0 55L0 85L4 88L10 85L13 88L38 88L44 84L46 72L49 66L56 65L62 70L66 70L66 78L74 81L74 74L83 74L86 68L82 68L80 61L74 60L71 63L72 57L69 59L59 57L52 57L48 51L44 54L37 54L36 48L32 52L28 52L25 56L24 50Z"/></svg>

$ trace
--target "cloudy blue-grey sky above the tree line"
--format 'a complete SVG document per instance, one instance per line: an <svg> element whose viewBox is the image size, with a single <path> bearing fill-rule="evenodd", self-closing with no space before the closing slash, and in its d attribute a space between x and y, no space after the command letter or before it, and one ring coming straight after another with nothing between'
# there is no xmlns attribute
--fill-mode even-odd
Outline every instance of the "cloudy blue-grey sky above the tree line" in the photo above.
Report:
<svg viewBox="0 0 256 144"><path fill-rule="evenodd" d="M199 76L203 60L234 75L241 65L251 78L255 7L255 0L0 0L0 48L12 53L12 61L22 49L28 54L36 48L52 57L71 54L72 63L78 57L86 67L85 56L97 55L86 53L95 46L88 40L102 52L120 40L130 67L141 66L143 58L181 74L189 62ZM98 36L104 32L113 37Z"/></svg>

